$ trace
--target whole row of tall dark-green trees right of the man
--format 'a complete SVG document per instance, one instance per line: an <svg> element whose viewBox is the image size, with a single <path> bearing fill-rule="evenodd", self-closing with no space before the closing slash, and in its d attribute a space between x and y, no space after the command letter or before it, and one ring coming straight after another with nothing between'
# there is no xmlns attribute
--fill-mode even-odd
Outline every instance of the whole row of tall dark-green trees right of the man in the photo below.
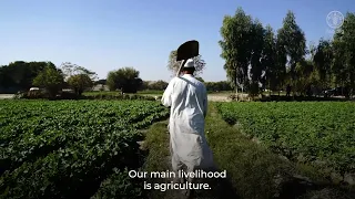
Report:
<svg viewBox="0 0 355 199"><path fill-rule="evenodd" d="M306 46L305 34L288 11L274 31L237 8L225 15L219 42L224 70L233 88L257 95L263 88L304 94L310 87L355 87L355 15L347 13L332 40L320 39ZM307 55L311 55L307 57Z"/></svg>

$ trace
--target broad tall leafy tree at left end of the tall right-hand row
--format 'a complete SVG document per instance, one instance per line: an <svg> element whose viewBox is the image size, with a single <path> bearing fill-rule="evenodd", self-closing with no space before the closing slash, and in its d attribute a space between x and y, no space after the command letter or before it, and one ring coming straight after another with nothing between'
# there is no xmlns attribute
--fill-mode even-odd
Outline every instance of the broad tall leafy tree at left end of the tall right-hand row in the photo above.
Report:
<svg viewBox="0 0 355 199"><path fill-rule="evenodd" d="M261 93L266 63L263 62L265 29L257 20L239 8L233 17L226 15L221 28L221 56L231 85L247 90L250 96Z"/></svg>

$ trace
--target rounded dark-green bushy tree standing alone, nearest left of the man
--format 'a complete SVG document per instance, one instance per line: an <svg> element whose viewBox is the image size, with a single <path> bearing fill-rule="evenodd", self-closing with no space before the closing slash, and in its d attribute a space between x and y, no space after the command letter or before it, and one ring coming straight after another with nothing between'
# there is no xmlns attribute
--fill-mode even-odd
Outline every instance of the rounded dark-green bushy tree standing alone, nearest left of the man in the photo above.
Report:
<svg viewBox="0 0 355 199"><path fill-rule="evenodd" d="M109 90L121 90L122 93L136 93L143 84L139 74L140 72L133 67L123 67L109 72L106 78Z"/></svg>

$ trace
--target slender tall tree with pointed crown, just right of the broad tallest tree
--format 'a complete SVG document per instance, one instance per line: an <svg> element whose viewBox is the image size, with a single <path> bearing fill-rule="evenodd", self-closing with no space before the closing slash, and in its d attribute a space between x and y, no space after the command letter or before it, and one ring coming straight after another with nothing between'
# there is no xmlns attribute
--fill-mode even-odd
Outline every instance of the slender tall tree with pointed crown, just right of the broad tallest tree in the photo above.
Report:
<svg viewBox="0 0 355 199"><path fill-rule="evenodd" d="M283 20L283 27L277 31L280 46L285 51L288 59L290 77L293 84L296 78L296 64L303 61L306 54L306 40L304 32L297 25L295 15L288 11Z"/></svg>

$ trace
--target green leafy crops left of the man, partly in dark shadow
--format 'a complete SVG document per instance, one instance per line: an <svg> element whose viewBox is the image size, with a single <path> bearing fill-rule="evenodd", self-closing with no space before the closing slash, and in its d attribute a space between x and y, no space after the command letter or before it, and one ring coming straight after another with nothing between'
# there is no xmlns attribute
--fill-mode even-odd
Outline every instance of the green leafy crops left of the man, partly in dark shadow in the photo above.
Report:
<svg viewBox="0 0 355 199"><path fill-rule="evenodd" d="M0 198L133 198L148 101L0 102Z"/></svg>

